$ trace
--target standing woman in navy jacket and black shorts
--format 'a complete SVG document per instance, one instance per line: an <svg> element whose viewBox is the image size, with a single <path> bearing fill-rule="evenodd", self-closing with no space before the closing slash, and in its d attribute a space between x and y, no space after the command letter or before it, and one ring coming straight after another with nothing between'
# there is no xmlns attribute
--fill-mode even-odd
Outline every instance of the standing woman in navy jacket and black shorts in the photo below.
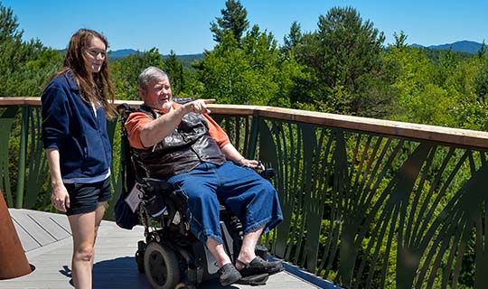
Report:
<svg viewBox="0 0 488 289"><path fill-rule="evenodd" d="M107 39L93 30L71 36L62 69L42 93L42 142L51 172L52 205L65 212L73 238L75 288L91 288L94 246L105 205L111 198L112 153L107 117Z"/></svg>

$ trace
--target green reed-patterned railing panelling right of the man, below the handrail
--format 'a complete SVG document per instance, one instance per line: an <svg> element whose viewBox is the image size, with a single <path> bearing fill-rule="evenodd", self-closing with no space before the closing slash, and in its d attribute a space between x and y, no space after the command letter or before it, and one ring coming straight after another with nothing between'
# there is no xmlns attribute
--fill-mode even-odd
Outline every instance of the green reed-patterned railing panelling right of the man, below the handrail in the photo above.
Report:
<svg viewBox="0 0 488 289"><path fill-rule="evenodd" d="M486 284L484 151L263 119L259 137L285 214L275 255L352 288Z"/></svg>

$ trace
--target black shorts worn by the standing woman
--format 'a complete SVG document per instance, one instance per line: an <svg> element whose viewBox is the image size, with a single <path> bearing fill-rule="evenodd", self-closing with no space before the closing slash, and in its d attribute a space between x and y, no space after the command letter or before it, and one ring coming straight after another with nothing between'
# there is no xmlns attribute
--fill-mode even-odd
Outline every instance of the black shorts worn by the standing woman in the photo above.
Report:
<svg viewBox="0 0 488 289"><path fill-rule="evenodd" d="M70 194L70 208L66 208L66 215L89 213L97 210L99 202L112 198L110 178L93 183L65 183Z"/></svg>

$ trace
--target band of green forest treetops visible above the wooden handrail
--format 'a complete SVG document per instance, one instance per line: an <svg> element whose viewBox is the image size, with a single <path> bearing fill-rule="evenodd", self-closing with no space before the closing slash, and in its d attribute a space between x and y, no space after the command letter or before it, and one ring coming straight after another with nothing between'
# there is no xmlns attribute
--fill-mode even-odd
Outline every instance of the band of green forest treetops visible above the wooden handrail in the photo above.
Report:
<svg viewBox="0 0 488 289"><path fill-rule="evenodd" d="M211 23L217 42L192 67L156 48L112 61L117 98L139 99L137 76L154 65L168 72L176 96L221 103L296 107L440 126L488 128L486 46L472 55L408 46L404 32L384 35L352 7L320 15L317 30L291 23L284 44L228 0ZM0 3L0 95L40 96L63 54L22 40L12 9Z"/></svg>

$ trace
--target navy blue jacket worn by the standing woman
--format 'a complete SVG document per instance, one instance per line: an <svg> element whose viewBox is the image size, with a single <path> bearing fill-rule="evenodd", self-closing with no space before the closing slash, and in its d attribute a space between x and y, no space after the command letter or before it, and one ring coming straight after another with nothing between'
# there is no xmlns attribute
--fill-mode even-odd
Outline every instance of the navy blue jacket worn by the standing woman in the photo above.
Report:
<svg viewBox="0 0 488 289"><path fill-rule="evenodd" d="M72 73L55 77L42 92L42 143L60 152L63 179L106 174L112 162L105 109L83 101Z"/></svg>

